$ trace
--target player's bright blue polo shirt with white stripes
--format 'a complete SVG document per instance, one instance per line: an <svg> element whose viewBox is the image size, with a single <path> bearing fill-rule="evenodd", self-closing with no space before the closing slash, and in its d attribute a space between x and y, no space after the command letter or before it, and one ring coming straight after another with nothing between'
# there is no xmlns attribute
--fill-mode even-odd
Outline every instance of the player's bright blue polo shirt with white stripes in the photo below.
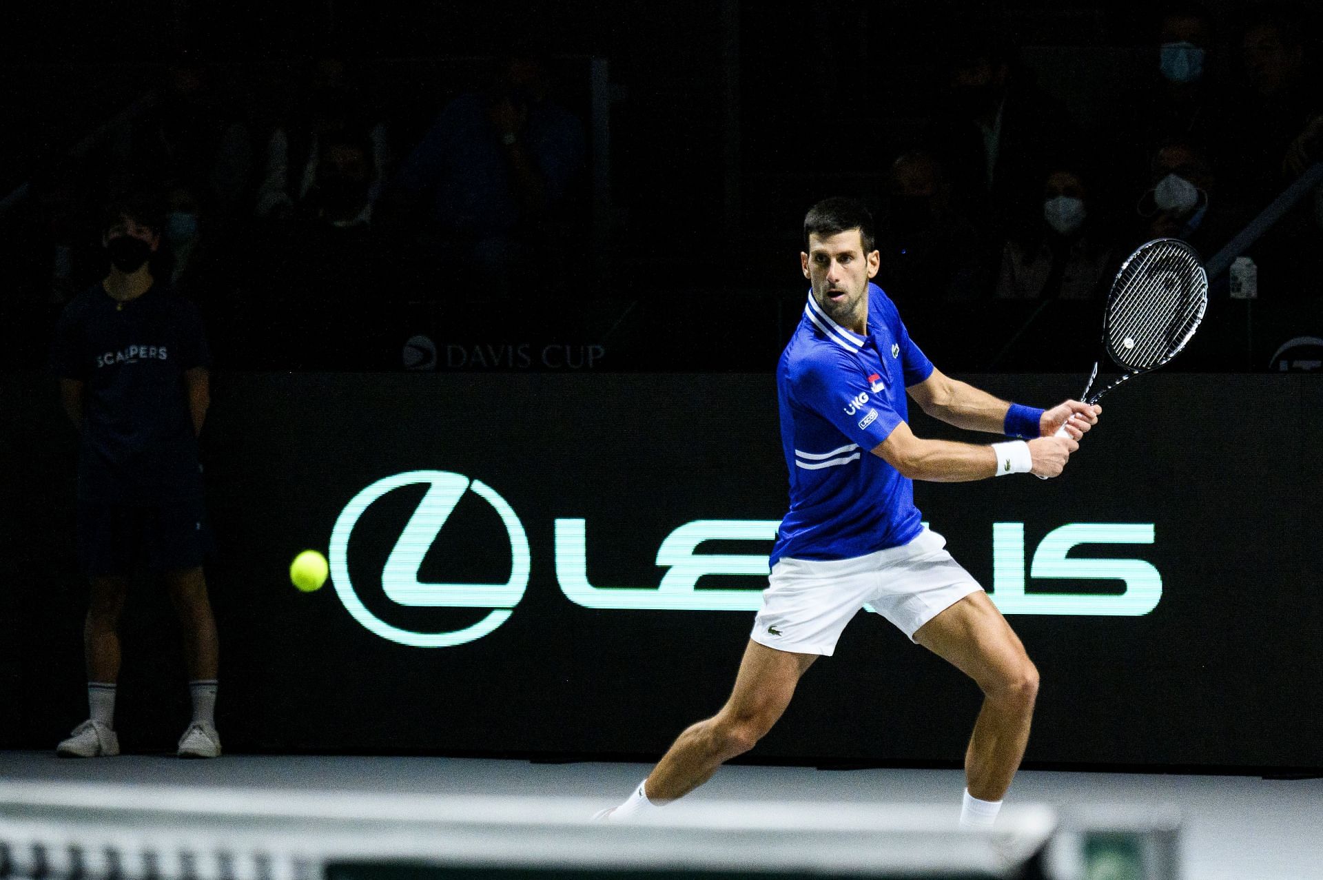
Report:
<svg viewBox="0 0 1323 880"><path fill-rule="evenodd" d="M818 306L781 355L777 397L790 511L770 565L783 556L841 560L912 541L922 529L914 483L871 450L906 421L905 389L933 373L881 287L868 285L868 335Z"/></svg>

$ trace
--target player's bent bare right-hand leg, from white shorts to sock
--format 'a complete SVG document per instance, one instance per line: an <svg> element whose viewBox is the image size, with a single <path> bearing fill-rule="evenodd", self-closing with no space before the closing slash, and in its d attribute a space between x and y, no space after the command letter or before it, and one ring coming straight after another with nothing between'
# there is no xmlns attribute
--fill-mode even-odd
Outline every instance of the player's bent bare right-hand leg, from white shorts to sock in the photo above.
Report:
<svg viewBox="0 0 1323 880"><path fill-rule="evenodd" d="M1011 787L1029 741L1039 671L986 593L971 593L925 623L914 640L983 689L983 708L964 753L968 793L996 802Z"/></svg>

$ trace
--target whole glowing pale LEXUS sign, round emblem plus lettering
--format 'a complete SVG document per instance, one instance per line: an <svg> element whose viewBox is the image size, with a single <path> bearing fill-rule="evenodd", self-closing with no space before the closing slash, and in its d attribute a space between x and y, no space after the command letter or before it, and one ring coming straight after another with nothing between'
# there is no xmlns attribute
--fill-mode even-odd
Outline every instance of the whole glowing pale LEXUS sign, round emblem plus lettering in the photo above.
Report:
<svg viewBox="0 0 1323 880"><path fill-rule="evenodd" d="M872 417L872 414L869 416ZM867 418L864 419L868 421ZM348 547L364 511L384 495L406 486L426 484L427 492L396 539L381 570L388 599L409 607L491 609L462 630L418 633L386 623L363 603L349 581ZM466 492L492 506L505 527L511 570L504 584L422 584L423 557L450 520ZM692 520L676 527L656 550L656 565L667 569L660 582L648 578L626 586L598 586L589 581L587 520L557 517L553 523L556 584L566 599L581 607L630 611L757 611L767 578L767 544L777 537L779 520ZM1139 617L1162 599L1162 574L1146 560L1084 558L1070 554L1081 544L1152 544L1152 523L1066 523L1053 528L1037 548L1025 543L1025 524L992 523L992 601L1003 614L1068 614ZM700 552L708 541L750 541L749 553ZM531 557L528 536L513 508L480 480L450 471L409 471L386 476L363 490L344 507L331 532L331 577L340 602L368 631L413 647L450 647L480 639L509 619L528 589ZM1029 562L1027 566L1025 562ZM747 588L697 589L708 576L757 578ZM1028 580L1101 580L1125 584L1098 592L1056 593L1041 585L1027 590ZM872 610L869 606L864 606Z"/></svg>

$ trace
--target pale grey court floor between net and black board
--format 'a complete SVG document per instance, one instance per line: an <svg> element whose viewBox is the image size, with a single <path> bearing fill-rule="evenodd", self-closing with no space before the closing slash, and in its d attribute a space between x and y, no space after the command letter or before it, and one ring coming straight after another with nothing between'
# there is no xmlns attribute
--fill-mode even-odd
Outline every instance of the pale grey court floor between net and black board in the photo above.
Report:
<svg viewBox="0 0 1323 880"><path fill-rule="evenodd" d="M352 803L393 795L556 797L619 802L647 773L639 764L532 764L519 760L226 756L180 761L120 756L74 761L53 753L0 752L4 782L93 782L221 789L335 791ZM684 803L913 803L958 814L955 770L815 770L728 766ZM1007 805L1175 809L1181 816L1185 880L1323 880L1323 779L1233 775L1021 771Z"/></svg>

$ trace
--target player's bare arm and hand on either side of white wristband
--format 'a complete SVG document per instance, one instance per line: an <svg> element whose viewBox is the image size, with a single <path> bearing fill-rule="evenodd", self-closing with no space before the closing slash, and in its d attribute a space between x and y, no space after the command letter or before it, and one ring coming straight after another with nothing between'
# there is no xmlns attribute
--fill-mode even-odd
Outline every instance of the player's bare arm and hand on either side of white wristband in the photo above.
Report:
<svg viewBox="0 0 1323 880"><path fill-rule="evenodd" d="M1032 474L1058 476L1070 453L1080 443L1069 437L1040 437L1028 441ZM913 480L935 483L967 483L998 475L998 454L992 446L955 443L951 441L914 437L909 425L901 422L886 439L873 447L888 464Z"/></svg>

